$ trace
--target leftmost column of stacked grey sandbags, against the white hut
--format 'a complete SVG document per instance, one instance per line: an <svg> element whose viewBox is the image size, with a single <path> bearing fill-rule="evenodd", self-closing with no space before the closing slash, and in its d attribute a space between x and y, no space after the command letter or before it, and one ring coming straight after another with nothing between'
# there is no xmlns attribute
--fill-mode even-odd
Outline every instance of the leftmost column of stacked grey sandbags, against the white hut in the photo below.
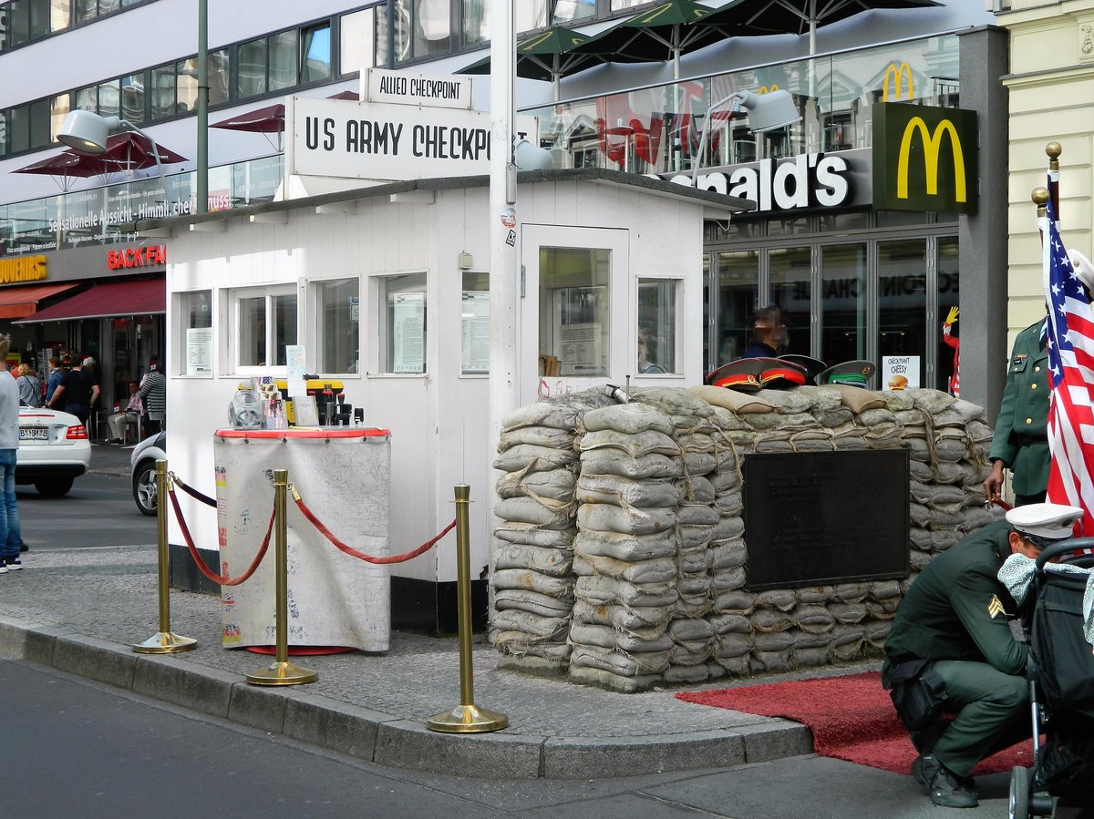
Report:
<svg viewBox="0 0 1094 819"><path fill-rule="evenodd" d="M490 640L503 667L562 672L573 611L574 489L581 416L612 403L603 389L539 401L502 420Z"/></svg>

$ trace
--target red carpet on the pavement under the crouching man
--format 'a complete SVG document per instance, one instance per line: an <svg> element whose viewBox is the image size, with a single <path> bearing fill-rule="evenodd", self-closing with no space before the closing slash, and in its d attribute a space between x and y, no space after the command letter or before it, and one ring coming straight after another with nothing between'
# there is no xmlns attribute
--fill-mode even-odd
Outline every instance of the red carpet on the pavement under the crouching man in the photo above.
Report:
<svg viewBox="0 0 1094 819"><path fill-rule="evenodd" d="M888 691L882 688L876 672L687 691L676 697L700 705L804 723L813 732L813 747L822 757L894 773L909 773L916 759L908 732L897 719ZM1031 739L989 757L973 773L997 773L1032 764Z"/></svg>

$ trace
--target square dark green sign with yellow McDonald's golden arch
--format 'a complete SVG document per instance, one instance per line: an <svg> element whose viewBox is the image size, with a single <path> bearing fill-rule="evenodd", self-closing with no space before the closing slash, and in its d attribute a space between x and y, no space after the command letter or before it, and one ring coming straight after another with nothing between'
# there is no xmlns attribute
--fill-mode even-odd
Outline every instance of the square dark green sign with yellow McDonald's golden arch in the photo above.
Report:
<svg viewBox="0 0 1094 819"><path fill-rule="evenodd" d="M875 210L976 212L976 112L876 103L873 137Z"/></svg>

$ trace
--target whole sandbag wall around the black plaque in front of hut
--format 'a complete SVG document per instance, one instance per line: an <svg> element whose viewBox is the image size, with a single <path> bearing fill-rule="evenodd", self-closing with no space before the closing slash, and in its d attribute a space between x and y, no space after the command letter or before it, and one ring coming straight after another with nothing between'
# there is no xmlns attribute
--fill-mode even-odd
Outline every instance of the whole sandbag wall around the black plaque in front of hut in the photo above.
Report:
<svg viewBox="0 0 1094 819"><path fill-rule="evenodd" d="M499 666L619 691L880 653L934 554L993 518L991 430L935 390L608 388L504 419L490 639ZM907 448L910 565L900 581L752 593L748 453Z"/></svg>

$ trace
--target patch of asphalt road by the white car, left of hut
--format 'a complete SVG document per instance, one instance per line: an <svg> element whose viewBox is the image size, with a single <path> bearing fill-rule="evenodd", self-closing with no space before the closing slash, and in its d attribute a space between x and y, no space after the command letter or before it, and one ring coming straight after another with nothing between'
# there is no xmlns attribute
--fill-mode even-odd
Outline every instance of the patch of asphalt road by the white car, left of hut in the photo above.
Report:
<svg viewBox="0 0 1094 819"><path fill-rule="evenodd" d="M95 446L91 471L63 498L15 488L23 540L35 550L155 546L155 518L142 515L129 484L129 449Z"/></svg>

